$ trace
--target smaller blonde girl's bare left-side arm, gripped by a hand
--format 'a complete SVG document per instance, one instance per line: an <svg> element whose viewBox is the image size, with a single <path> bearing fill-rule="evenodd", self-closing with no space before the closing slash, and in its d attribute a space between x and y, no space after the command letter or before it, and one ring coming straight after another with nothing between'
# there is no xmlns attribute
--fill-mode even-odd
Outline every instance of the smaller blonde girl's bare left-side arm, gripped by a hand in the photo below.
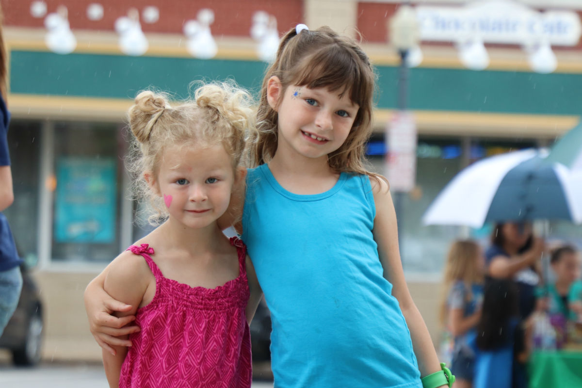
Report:
<svg viewBox="0 0 582 388"><path fill-rule="evenodd" d="M153 277L143 257L132 252L125 251L111 262L105 274L104 290L118 301L132 306L128 311L115 312L115 316L127 316L136 314L141 304L145 290ZM126 339L127 336L123 336ZM127 348L125 346L113 346L115 355L105 349L102 350L105 375L111 388L119 386L119 375Z"/></svg>

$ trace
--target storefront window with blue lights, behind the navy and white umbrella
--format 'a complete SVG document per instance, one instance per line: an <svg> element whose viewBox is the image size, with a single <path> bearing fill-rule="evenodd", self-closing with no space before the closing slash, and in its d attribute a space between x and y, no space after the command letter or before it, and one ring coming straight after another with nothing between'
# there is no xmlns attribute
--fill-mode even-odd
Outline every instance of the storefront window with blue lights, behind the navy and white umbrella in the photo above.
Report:
<svg viewBox="0 0 582 388"><path fill-rule="evenodd" d="M531 139L481 140L479 138L437 138L420 136L417 144L416 186L410 193L392 193L399 217L400 254L407 273L441 273L450 243L463 236L489 244L492 225L480 229L463 226L426 226L422 216L464 166L487 156L536 147ZM384 173L384 140L368 144L368 159L375 172ZM552 223L550 237L580 243L580 227Z"/></svg>

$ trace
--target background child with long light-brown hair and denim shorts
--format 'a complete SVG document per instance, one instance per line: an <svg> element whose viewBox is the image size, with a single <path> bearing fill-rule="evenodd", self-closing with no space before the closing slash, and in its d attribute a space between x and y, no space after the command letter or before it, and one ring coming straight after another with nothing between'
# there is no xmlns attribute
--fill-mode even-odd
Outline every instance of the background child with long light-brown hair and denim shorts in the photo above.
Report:
<svg viewBox="0 0 582 388"><path fill-rule="evenodd" d="M471 240L455 241L449 249L443 280L441 321L453 336L452 362L456 388L470 388L475 352L471 340L481 318L484 258Z"/></svg>

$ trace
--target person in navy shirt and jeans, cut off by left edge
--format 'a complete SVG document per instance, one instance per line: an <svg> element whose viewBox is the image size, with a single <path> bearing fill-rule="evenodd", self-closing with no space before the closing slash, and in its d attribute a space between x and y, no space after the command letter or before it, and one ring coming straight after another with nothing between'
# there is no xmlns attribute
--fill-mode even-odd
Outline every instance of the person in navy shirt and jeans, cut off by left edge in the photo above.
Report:
<svg viewBox="0 0 582 388"><path fill-rule="evenodd" d="M2 34L2 8L0 8L0 336L16 309L22 289L20 259L10 232L8 220L2 211L12 205L12 172L8 154L8 122L6 108L6 50Z"/></svg>

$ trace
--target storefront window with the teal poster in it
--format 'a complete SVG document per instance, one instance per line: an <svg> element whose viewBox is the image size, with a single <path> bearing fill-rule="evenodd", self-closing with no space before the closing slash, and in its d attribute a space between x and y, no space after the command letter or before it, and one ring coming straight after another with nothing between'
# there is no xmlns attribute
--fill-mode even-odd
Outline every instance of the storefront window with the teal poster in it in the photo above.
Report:
<svg viewBox="0 0 582 388"><path fill-rule="evenodd" d="M125 141L116 124L56 123L54 261L119 254Z"/></svg>

